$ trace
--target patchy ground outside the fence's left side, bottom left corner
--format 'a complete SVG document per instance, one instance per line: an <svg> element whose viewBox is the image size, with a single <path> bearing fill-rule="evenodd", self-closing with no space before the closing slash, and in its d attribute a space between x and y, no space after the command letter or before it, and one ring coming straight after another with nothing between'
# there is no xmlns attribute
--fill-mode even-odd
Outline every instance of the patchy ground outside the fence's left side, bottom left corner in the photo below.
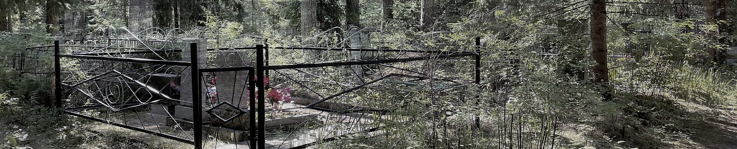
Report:
<svg viewBox="0 0 737 149"><path fill-rule="evenodd" d="M131 131L0 94L0 148L192 148L181 142Z"/></svg>

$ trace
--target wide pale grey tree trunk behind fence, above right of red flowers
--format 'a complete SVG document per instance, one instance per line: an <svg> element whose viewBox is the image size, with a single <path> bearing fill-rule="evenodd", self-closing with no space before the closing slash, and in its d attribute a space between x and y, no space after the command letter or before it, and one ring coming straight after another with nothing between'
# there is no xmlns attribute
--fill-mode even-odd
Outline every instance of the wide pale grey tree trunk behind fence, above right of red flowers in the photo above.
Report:
<svg viewBox="0 0 737 149"><path fill-rule="evenodd" d="M315 0L302 0L301 12L301 36L303 39L311 37L310 32L318 27L317 2Z"/></svg>

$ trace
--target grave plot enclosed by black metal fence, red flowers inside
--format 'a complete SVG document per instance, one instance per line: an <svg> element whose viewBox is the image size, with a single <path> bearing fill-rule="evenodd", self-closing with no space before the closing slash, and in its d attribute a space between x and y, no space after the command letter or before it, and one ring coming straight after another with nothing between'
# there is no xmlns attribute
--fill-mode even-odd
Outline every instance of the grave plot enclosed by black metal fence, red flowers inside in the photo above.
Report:
<svg viewBox="0 0 737 149"><path fill-rule="evenodd" d="M57 42L57 106L195 148L307 148L382 134L408 105L429 105L407 100L428 90L474 102L480 82L474 52L165 44L172 48Z"/></svg>

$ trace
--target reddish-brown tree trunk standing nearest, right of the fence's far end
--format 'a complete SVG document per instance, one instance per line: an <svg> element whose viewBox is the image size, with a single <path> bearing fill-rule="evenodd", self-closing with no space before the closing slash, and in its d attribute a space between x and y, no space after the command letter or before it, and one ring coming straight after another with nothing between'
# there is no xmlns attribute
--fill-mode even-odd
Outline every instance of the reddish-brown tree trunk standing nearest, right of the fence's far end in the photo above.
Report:
<svg viewBox="0 0 737 149"><path fill-rule="evenodd" d="M593 82L601 84L605 100L611 100L609 93L609 70L607 67L607 0L591 1L591 59Z"/></svg>

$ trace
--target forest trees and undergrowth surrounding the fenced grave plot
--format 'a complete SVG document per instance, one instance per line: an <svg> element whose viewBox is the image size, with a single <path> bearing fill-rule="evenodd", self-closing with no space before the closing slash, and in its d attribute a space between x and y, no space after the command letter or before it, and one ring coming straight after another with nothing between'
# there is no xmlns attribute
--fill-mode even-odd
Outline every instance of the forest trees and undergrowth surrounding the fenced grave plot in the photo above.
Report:
<svg viewBox="0 0 737 149"><path fill-rule="evenodd" d="M51 71L26 48L106 29L200 29L213 48L475 51L478 103L416 94L383 128L318 148L737 148L737 1L730 0L0 0L2 148L192 148L55 116ZM354 31L354 30L353 30ZM737 49L737 48L734 48ZM51 66L52 57L32 57ZM473 65L458 65L473 69ZM427 73L453 75L427 67ZM391 90L377 94L391 96ZM46 105L46 106L45 106ZM427 116L428 112L436 115ZM454 117L441 116L443 112ZM472 117L481 117L476 127ZM418 123L422 122L422 123ZM102 133L104 132L104 133ZM440 133L442 132L442 133ZM151 136L153 137L153 136Z"/></svg>

